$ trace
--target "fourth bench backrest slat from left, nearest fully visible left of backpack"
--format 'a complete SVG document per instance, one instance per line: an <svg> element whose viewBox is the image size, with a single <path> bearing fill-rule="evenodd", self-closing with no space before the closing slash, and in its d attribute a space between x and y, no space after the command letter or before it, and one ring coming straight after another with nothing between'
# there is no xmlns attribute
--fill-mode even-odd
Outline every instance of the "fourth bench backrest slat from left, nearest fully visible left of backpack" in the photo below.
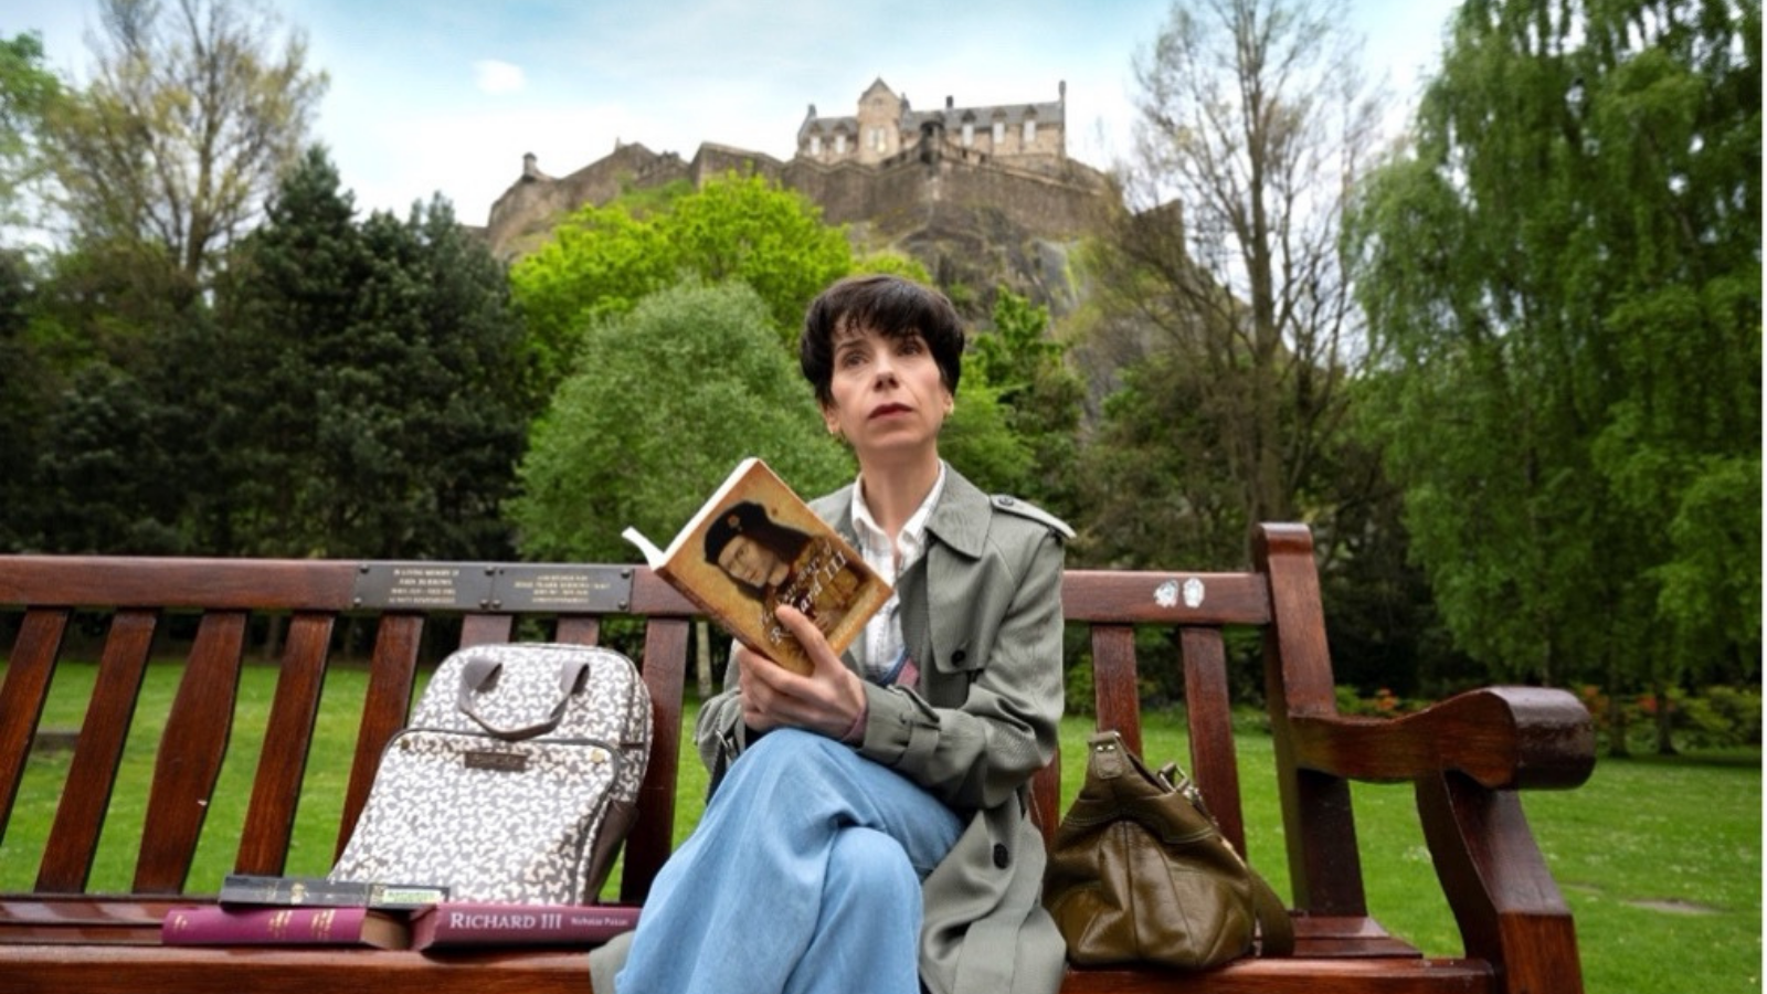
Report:
<svg viewBox="0 0 1767 994"><path fill-rule="evenodd" d="M239 845L237 868L242 874L276 875L288 861L334 628L336 617L330 614L300 612L288 621L281 674L270 700L270 718L265 722L265 745L258 752L258 773L251 782L251 805L246 808Z"/></svg>

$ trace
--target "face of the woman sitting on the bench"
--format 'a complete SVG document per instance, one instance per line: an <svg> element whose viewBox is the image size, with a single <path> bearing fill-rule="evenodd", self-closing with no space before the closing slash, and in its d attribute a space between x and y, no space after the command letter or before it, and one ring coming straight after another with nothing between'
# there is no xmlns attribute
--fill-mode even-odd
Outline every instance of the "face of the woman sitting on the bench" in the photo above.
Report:
<svg viewBox="0 0 1767 994"><path fill-rule="evenodd" d="M822 416L861 458L937 447L951 391L919 333L887 338L846 329L834 343L830 401Z"/></svg>

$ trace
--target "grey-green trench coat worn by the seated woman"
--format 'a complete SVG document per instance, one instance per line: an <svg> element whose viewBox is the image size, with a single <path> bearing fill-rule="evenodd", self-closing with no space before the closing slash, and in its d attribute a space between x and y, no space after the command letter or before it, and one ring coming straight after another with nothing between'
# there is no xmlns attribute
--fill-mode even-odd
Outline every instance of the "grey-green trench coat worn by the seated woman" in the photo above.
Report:
<svg viewBox="0 0 1767 994"><path fill-rule="evenodd" d="M813 506L852 541L850 486ZM921 978L931 994L1053 994L1062 982L1066 946L1039 902L1044 851L1027 792L1055 753L1062 715L1062 541L1071 536L1044 511L988 497L949 470L926 555L898 582L919 686L866 684L859 752L970 812L922 886ZM714 771L742 750L733 692L705 702L694 738ZM624 943L592 953L597 994L613 990L622 960Z"/></svg>

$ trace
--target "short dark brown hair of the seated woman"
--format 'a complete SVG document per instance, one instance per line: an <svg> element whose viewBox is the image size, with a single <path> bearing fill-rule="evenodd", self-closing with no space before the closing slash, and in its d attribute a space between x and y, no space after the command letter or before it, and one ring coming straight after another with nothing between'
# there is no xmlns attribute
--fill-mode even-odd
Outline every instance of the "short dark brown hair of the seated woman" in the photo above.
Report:
<svg viewBox="0 0 1767 994"><path fill-rule="evenodd" d="M938 377L952 396L963 373L963 322L938 290L889 274L848 276L830 285L804 313L797 363L816 389L816 400L834 400L834 345L846 331L876 331L901 340L919 334L938 364Z"/></svg>

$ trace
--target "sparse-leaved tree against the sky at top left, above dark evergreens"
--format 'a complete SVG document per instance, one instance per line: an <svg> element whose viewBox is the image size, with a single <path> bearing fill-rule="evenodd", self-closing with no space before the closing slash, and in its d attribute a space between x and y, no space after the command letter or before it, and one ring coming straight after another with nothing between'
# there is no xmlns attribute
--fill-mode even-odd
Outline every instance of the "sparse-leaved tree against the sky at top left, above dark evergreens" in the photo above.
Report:
<svg viewBox="0 0 1767 994"><path fill-rule="evenodd" d="M323 73L253 0L101 0L97 74L48 117L80 242L164 246L200 288L300 156Z"/></svg>

